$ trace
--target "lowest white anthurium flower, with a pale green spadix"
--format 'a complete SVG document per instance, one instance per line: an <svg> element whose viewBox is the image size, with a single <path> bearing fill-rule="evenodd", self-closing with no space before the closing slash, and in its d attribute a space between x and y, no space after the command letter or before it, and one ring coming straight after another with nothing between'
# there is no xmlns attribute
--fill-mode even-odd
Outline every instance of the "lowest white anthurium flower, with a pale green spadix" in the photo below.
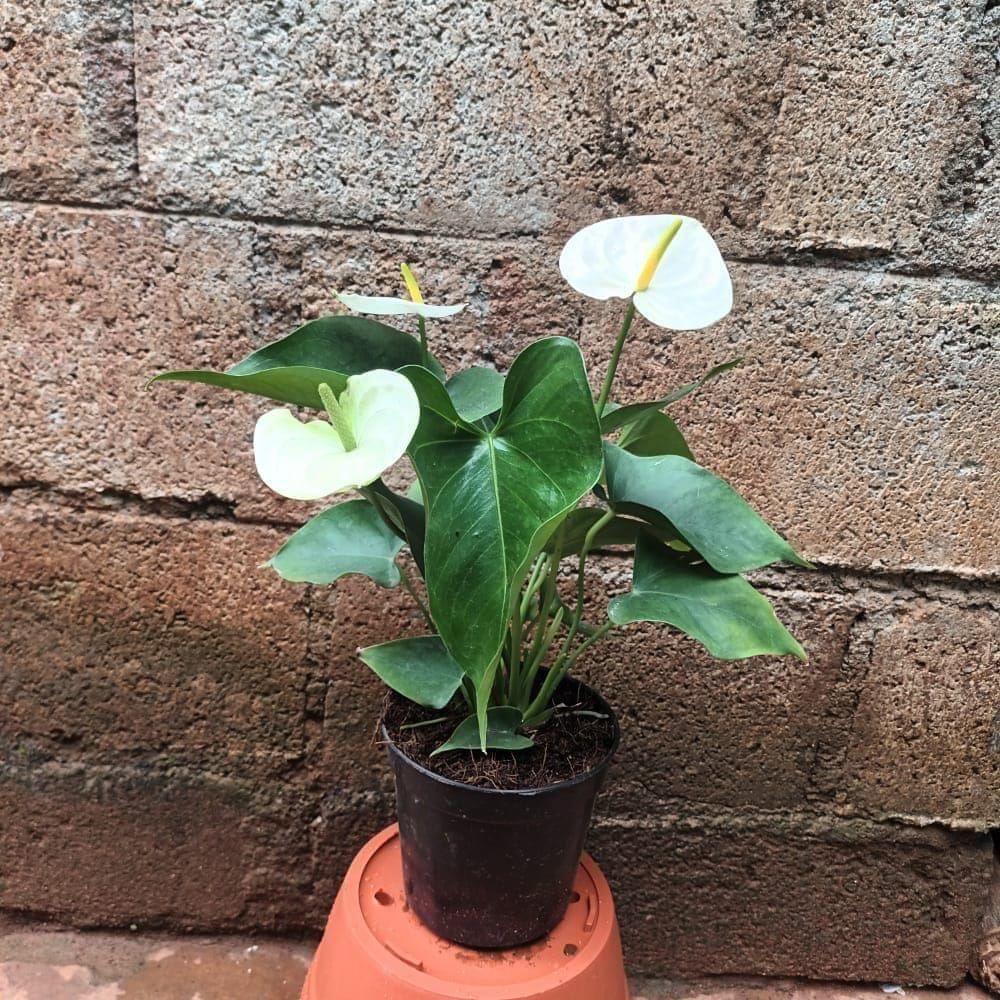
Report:
<svg viewBox="0 0 1000 1000"><path fill-rule="evenodd" d="M330 423L303 423L276 409L254 430L260 478L292 500L319 500L374 482L402 457L420 420L417 394L399 372L352 375L340 399L326 384L320 396Z"/></svg>

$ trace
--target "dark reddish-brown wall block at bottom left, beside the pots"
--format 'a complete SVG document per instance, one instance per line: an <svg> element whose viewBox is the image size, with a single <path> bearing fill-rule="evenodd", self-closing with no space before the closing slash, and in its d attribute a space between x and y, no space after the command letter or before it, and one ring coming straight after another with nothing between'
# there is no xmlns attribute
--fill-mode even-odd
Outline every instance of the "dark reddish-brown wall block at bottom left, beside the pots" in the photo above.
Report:
<svg viewBox="0 0 1000 1000"><path fill-rule="evenodd" d="M0 745L0 910L83 928L314 933L385 800ZM2 995L2 994L0 994Z"/></svg>

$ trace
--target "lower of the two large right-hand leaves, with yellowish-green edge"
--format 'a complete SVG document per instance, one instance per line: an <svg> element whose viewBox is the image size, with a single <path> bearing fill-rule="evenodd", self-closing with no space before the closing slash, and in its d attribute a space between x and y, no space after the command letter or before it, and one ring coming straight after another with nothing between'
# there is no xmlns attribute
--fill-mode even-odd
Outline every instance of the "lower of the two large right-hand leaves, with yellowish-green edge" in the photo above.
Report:
<svg viewBox="0 0 1000 1000"><path fill-rule="evenodd" d="M616 625L666 622L722 660L787 653L806 658L770 602L743 577L693 565L645 533L636 548L632 591L611 601L608 617Z"/></svg>

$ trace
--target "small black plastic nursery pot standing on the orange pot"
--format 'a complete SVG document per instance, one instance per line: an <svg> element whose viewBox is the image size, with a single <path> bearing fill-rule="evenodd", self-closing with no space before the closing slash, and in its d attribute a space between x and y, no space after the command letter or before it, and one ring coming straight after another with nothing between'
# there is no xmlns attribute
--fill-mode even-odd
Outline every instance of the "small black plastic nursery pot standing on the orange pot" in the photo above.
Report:
<svg viewBox="0 0 1000 1000"><path fill-rule="evenodd" d="M562 919L594 801L618 749L614 712L594 698L614 722L604 759L586 774L523 791L442 778L407 757L383 726L406 900L435 934L472 948L512 948Z"/></svg>

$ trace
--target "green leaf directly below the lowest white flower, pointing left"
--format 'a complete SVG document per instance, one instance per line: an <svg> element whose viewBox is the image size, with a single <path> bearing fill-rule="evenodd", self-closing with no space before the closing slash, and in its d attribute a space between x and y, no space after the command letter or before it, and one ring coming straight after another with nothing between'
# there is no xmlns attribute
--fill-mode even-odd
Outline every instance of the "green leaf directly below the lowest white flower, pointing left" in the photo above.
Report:
<svg viewBox="0 0 1000 1000"><path fill-rule="evenodd" d="M299 528L268 565L296 583L333 583L358 573L383 587L395 587L395 560L402 547L367 500L348 500Z"/></svg>

